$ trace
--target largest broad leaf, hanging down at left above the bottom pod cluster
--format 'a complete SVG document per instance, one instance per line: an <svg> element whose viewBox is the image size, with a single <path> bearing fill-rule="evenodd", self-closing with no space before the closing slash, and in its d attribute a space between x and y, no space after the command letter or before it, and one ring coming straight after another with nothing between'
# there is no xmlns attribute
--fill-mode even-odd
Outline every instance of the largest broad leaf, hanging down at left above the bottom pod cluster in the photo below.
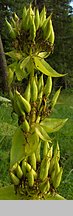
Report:
<svg viewBox="0 0 73 216"><path fill-rule="evenodd" d="M20 162L25 157L25 143L24 134L20 128L17 128L12 139L12 148L10 154L10 167L16 162Z"/></svg>

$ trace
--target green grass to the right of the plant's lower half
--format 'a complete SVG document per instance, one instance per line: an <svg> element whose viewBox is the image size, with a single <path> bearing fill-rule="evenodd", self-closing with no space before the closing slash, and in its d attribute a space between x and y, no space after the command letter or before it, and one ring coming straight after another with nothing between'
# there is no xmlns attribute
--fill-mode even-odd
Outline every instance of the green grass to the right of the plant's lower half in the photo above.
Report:
<svg viewBox="0 0 73 216"><path fill-rule="evenodd" d="M52 117L68 118L60 131L55 133L61 151L63 178L58 191L66 199L73 200L73 93L62 92Z"/></svg>

